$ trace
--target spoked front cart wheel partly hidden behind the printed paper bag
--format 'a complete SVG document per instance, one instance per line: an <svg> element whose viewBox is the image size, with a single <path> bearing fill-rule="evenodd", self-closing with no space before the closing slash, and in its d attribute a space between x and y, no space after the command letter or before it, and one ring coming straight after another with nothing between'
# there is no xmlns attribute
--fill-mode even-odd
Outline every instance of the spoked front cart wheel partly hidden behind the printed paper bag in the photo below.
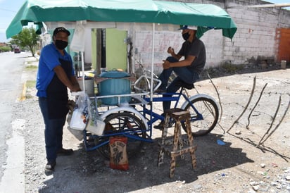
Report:
<svg viewBox="0 0 290 193"><path fill-rule="evenodd" d="M108 136L129 135L131 137L127 137L127 156L132 157L139 153L144 143L140 139L146 138L146 127L137 116L134 116L132 113L128 112L113 113L108 116L104 122L106 123L106 127L103 132L103 135L105 136L98 137L95 141L96 144L108 142ZM98 151L104 157L110 158L111 153L109 144L99 147Z"/></svg>

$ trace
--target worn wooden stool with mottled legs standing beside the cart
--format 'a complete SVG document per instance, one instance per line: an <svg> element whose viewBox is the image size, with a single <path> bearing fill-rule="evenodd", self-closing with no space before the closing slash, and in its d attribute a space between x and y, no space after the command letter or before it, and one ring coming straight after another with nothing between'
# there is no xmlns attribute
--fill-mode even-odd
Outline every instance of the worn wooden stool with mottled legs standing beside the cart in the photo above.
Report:
<svg viewBox="0 0 290 193"><path fill-rule="evenodd" d="M170 118L175 120L175 130L174 130L174 140L173 140L173 149L170 151L168 149L168 144L165 144L165 138L168 135L168 123ZM191 134L191 125L190 125L190 113L189 111L185 111L181 108L171 108L165 111L165 124L162 131L162 138L160 145L160 151L158 155L158 166L163 163L164 153L168 153L171 156L170 161L170 178L174 176L175 166L176 166L176 157L181 156L184 158L185 153L189 152L191 156L191 164L193 168L196 168L196 156L195 151L196 147L194 147L194 138ZM181 135L181 123L180 121L186 121L187 125L187 138L188 138L188 147L183 148L182 143L182 135Z"/></svg>

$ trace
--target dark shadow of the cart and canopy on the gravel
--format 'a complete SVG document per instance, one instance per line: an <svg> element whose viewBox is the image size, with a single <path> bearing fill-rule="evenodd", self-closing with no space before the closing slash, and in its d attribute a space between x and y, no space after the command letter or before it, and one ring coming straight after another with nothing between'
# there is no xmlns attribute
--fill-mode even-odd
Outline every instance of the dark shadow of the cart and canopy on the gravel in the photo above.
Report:
<svg viewBox="0 0 290 193"><path fill-rule="evenodd" d="M241 148L232 148L228 142L219 144L217 140L222 141L222 135L195 138L197 168L192 168L190 156L186 154L184 159L177 158L173 178L169 178L169 156L165 155L165 163L157 167L160 138L146 143L144 151L130 158L127 171L109 168L105 158L96 151L85 151L80 144L73 156L58 158L53 178L44 182L46 187L39 192L49 192L52 187L57 192L132 192L177 180L190 183L199 175L253 162Z"/></svg>

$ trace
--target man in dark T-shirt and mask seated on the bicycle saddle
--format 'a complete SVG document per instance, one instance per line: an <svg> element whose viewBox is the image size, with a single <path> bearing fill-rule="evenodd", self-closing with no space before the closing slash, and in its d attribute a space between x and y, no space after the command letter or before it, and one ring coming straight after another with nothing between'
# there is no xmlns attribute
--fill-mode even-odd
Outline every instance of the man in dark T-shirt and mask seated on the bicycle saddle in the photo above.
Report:
<svg viewBox="0 0 290 193"><path fill-rule="evenodd" d="M168 47L168 54L171 54L171 56L163 61L163 72L159 76L161 85L156 92L175 93L181 87L180 84L177 84L180 81L184 82L184 84L192 85L199 79L199 74L206 64L206 47L200 39L196 38L196 27L182 25L179 30L182 30L182 37L185 42L177 54L175 54L174 49ZM184 59L179 61L182 56L184 56ZM167 87L172 71L175 72L177 77ZM168 94L163 94L163 96L170 97ZM170 101L164 101L163 111L169 108ZM163 125L164 121L161 121L154 128L161 129Z"/></svg>

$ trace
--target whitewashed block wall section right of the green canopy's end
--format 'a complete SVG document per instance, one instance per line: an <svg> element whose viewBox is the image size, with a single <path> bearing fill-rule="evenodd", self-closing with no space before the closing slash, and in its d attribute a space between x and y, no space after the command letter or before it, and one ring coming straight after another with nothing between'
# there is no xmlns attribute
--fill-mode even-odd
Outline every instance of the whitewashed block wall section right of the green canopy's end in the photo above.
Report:
<svg viewBox="0 0 290 193"><path fill-rule="evenodd" d="M238 8L265 1L227 1L226 7L237 23L237 34L225 44L224 61L233 64L258 64L277 61L276 30L283 25L290 27L289 12L280 8Z"/></svg>

